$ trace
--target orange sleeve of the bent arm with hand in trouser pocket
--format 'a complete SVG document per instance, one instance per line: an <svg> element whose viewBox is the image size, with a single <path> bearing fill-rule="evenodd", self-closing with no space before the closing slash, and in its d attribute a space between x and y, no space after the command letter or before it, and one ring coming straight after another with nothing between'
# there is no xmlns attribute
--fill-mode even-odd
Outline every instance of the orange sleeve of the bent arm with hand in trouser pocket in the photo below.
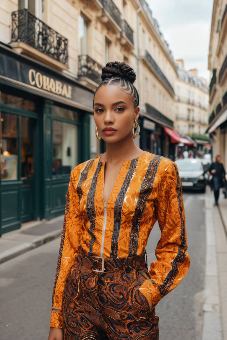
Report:
<svg viewBox="0 0 227 340"><path fill-rule="evenodd" d="M153 306L180 283L190 266L181 181L175 163L169 164L161 177L156 215L161 229L157 260L149 269L151 279L139 289Z"/></svg>

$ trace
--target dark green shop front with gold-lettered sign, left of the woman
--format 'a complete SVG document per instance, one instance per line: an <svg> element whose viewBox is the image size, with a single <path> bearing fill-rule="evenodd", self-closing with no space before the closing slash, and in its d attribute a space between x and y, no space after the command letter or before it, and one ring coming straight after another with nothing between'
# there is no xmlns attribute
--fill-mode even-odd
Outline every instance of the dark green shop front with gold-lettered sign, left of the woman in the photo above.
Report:
<svg viewBox="0 0 227 340"><path fill-rule="evenodd" d="M90 158L92 100L76 81L0 47L0 235L64 214L70 171Z"/></svg>

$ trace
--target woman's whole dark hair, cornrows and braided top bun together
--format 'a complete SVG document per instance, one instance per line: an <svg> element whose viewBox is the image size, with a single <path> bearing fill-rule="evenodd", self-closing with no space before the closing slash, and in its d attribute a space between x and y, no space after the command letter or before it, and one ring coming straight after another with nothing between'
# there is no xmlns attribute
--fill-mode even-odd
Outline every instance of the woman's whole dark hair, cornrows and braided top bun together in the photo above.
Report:
<svg viewBox="0 0 227 340"><path fill-rule="evenodd" d="M134 108L139 105L139 94L133 85L136 75L134 70L123 62L110 62L102 68L102 82L95 91L101 86L115 85L124 90L133 100Z"/></svg>

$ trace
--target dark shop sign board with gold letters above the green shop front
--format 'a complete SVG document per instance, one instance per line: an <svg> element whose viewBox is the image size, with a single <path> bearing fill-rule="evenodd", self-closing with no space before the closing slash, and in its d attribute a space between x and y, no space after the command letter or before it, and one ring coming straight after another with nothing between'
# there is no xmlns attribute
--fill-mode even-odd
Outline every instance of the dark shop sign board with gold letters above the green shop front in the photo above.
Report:
<svg viewBox="0 0 227 340"><path fill-rule="evenodd" d="M81 105L93 112L94 92L74 81L70 81L63 74L30 62L11 51L0 48L0 81L15 84L28 92L37 92L44 98L54 98L69 105ZM58 97L58 98L56 98Z"/></svg>

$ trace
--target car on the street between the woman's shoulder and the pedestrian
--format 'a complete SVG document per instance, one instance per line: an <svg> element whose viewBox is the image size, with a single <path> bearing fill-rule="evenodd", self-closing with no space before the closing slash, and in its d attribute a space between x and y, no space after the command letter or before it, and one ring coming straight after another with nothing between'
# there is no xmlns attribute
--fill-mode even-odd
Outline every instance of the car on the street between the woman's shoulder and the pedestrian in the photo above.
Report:
<svg viewBox="0 0 227 340"><path fill-rule="evenodd" d="M205 192L208 174L200 158L177 159L182 189L200 190Z"/></svg>

